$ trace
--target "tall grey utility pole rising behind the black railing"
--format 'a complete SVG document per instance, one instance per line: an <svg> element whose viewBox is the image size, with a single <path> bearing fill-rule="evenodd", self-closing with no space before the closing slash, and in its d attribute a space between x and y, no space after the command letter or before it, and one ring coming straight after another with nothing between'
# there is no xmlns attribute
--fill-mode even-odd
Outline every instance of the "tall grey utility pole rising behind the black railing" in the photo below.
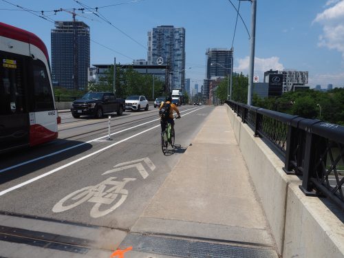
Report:
<svg viewBox="0 0 344 258"><path fill-rule="evenodd" d="M252 105L253 71L255 69L255 37L256 37L256 12L257 0L251 0L251 52L250 69L248 73L247 105Z"/></svg>

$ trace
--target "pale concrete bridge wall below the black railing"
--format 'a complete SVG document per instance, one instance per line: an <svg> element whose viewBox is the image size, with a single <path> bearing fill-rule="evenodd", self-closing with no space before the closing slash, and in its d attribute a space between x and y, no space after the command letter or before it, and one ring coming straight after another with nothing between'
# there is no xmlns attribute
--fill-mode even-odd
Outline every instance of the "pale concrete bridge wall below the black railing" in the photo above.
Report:
<svg viewBox="0 0 344 258"><path fill-rule="evenodd" d="M283 257L344 257L344 215L325 198L305 196L297 175L226 105L235 137Z"/></svg>

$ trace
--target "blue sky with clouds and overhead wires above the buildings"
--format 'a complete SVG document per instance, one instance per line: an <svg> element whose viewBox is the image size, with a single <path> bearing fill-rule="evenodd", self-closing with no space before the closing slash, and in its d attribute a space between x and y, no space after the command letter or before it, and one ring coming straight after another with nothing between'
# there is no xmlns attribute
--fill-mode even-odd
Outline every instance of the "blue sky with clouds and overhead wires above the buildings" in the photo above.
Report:
<svg viewBox="0 0 344 258"><path fill-rule="evenodd" d="M238 8L238 0L230 0ZM49 12L63 8L98 7L98 15L85 10L76 17L89 25L91 64L131 63L147 59L147 32L158 25L186 29L186 78L191 85L202 85L206 69L206 49L232 46L237 13L229 0L0 0L1 21L29 30L39 36L50 53L48 19L70 21L68 12ZM14 4L14 6L12 4ZM103 7L109 6L109 7ZM250 1L241 1L239 12L250 33ZM34 14L32 14L34 13ZM344 86L344 0L257 0L255 75L263 81L268 69L297 69L309 72L311 87ZM120 32L121 30L122 32ZM234 70L248 74L250 40L239 18L235 32ZM125 35L127 34L127 35ZM135 41L133 41L133 39ZM138 43L137 43L137 42ZM101 44L101 45L99 45ZM102 45L106 46L103 47ZM109 50L109 48L111 50Z"/></svg>

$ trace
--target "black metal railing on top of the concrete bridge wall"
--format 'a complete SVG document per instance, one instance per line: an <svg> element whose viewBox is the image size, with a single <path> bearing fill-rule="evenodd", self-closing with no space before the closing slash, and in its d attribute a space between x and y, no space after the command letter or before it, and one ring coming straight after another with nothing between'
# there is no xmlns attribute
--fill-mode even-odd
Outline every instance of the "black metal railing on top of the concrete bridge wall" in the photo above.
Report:
<svg viewBox="0 0 344 258"><path fill-rule="evenodd" d="M344 211L344 127L226 101L255 136L283 157L284 171L302 178L305 195L325 195Z"/></svg>

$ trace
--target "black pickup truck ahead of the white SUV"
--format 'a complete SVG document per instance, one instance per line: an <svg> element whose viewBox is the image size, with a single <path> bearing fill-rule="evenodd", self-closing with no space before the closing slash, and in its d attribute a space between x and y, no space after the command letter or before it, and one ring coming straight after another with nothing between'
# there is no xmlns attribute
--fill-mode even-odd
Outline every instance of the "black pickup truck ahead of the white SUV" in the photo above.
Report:
<svg viewBox="0 0 344 258"><path fill-rule="evenodd" d="M122 116L124 110L125 99L115 98L111 92L89 92L82 98L74 100L70 109L74 118L80 116L103 118L104 114L112 112Z"/></svg>

